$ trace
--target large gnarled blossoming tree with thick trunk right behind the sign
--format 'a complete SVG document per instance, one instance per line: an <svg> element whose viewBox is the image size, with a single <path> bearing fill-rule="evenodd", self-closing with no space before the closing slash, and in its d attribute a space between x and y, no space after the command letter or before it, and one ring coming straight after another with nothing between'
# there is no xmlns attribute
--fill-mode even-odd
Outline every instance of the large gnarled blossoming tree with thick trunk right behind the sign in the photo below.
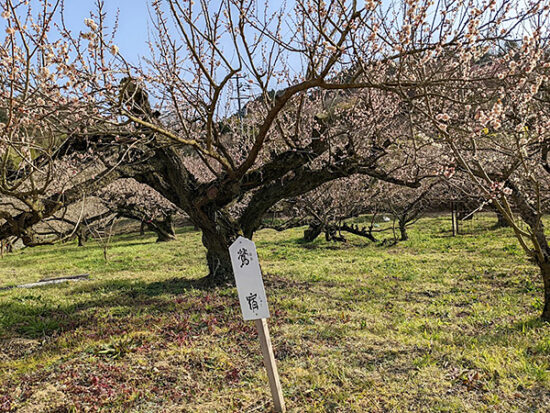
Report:
<svg viewBox="0 0 550 413"><path fill-rule="evenodd" d="M540 13L517 3L298 0L273 8L252 0L155 0L152 55L144 68L131 68L106 35L100 1L85 32L61 30L61 40L49 42L31 22L26 28L18 23L18 16L32 16L18 10L25 2L4 0L9 30L3 73L8 79L11 73L17 86L11 95L15 86L1 86L10 108L2 136L14 137L8 146L24 155L25 125L37 125L53 108L58 116L40 128L51 130L44 157L16 162L21 178L11 175L8 182L26 179L32 187L34 165L61 149L91 150L103 167L62 197L17 195L30 210L17 219L6 216L0 235L16 221L24 228L51 215L61 198L77 197L91 184L133 177L188 214L203 234L209 279L227 282L228 246L239 234L251 237L281 199L358 173L417 184L394 173L398 165L414 164L415 145L409 143L417 136L416 108L455 87L455 72L461 79L476 76L463 73L455 56L479 57ZM46 32L49 25L43 26ZM41 46L33 52L36 44ZM33 53L47 56L37 60ZM487 82L476 86L498 83L496 75L488 72ZM235 76L246 77L254 95L246 113L237 112L232 100L238 97ZM40 108L37 97L50 90L50 111L16 127L12 119L20 112L13 108L23 102ZM425 114L423 124L434 118L443 125L446 118L435 119L437 113ZM66 143L57 141L60 136ZM10 189L3 193L13 196Z"/></svg>

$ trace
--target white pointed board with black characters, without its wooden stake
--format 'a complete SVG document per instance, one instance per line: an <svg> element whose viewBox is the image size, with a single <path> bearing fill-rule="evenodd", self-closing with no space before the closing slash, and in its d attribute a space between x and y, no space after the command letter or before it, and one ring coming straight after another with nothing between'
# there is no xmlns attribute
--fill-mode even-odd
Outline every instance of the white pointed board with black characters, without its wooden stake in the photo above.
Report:
<svg viewBox="0 0 550 413"><path fill-rule="evenodd" d="M245 320L269 318L256 245L249 239L239 237L229 247L229 255L243 318Z"/></svg>

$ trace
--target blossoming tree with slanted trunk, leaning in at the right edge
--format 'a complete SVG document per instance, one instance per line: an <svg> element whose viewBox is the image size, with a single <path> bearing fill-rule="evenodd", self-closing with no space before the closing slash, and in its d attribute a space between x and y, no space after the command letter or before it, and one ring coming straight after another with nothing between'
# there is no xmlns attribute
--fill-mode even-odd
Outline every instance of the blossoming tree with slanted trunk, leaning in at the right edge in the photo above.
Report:
<svg viewBox="0 0 550 413"><path fill-rule="evenodd" d="M514 40L495 38L490 47L472 46L456 56L453 82L411 106L418 128L448 148L452 168L504 217L538 266L541 317L548 321L550 247L543 215L550 203L550 5L523 6L531 18L508 26ZM471 30L472 42L479 36Z"/></svg>

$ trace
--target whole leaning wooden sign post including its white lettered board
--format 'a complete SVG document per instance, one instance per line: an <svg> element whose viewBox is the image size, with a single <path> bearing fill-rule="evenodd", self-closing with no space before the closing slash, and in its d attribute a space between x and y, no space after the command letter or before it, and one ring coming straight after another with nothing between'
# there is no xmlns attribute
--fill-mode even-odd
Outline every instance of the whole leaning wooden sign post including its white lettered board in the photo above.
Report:
<svg viewBox="0 0 550 413"><path fill-rule="evenodd" d="M269 308L256 245L249 239L239 237L229 247L229 254L231 255L231 264L235 274L243 318L245 320L255 320L256 323L275 411L286 412L281 381L279 380L275 356L273 355L269 328L267 327L266 319L269 318Z"/></svg>

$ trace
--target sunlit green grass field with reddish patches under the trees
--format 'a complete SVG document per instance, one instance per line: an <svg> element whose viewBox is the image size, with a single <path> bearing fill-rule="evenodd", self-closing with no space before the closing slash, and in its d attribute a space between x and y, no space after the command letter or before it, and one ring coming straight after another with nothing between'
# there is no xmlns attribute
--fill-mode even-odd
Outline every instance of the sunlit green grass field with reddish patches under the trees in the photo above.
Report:
<svg viewBox="0 0 550 413"><path fill-rule="evenodd" d="M260 231L272 341L293 412L550 411L542 291L507 229L450 236L426 218L410 240L300 242ZM121 236L0 260L0 411L264 412L253 322L233 288L203 289L197 232L156 244Z"/></svg>

